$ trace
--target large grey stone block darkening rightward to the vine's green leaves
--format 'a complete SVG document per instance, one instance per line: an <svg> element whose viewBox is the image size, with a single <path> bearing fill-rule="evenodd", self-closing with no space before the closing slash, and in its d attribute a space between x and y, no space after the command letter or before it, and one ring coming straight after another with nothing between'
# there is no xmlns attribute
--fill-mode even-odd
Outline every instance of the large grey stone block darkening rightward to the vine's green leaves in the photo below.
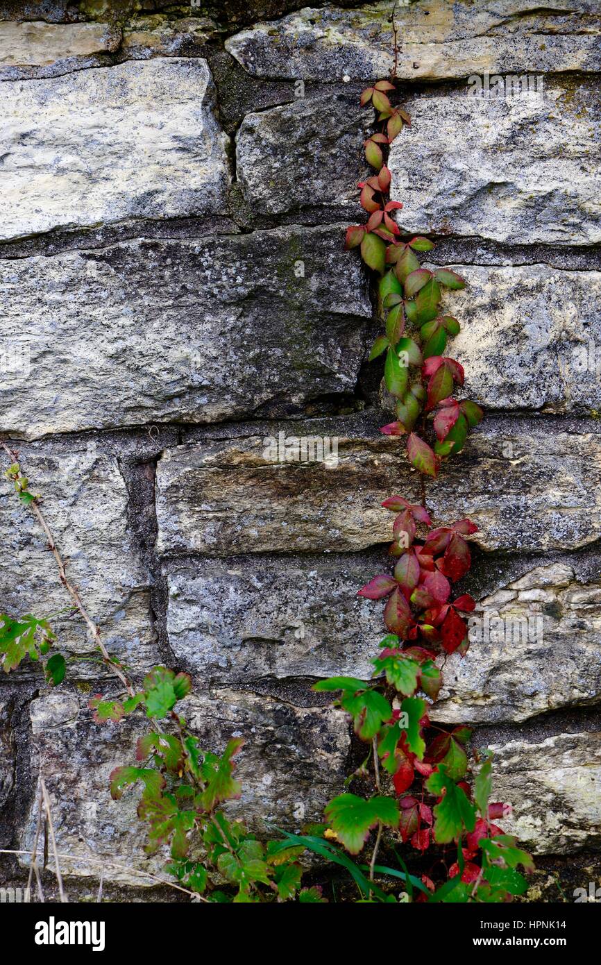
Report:
<svg viewBox="0 0 601 965"><path fill-rule="evenodd" d="M0 262L1 344L24 360L0 429L209 422L352 392L371 307L342 238L292 227Z"/></svg>

